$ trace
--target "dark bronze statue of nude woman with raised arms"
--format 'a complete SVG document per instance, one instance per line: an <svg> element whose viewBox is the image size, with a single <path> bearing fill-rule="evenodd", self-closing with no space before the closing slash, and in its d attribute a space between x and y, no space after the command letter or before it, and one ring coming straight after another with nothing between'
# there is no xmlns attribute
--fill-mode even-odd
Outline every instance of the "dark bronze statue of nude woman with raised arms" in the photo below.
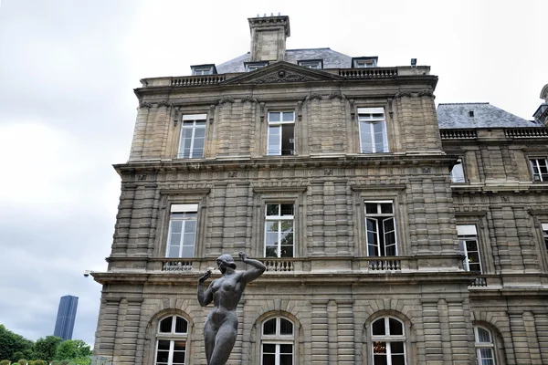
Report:
<svg viewBox="0 0 548 365"><path fill-rule="evenodd" d="M205 307L213 301L215 308L207 315L204 327L205 358L207 365L225 365L234 347L237 336L236 308L246 285L261 276L266 266L258 260L248 258L240 251L242 261L251 268L236 272L236 263L231 255L220 255L217 266L223 276L213 280L204 293L204 282L211 276L207 270L198 279L198 302Z"/></svg>

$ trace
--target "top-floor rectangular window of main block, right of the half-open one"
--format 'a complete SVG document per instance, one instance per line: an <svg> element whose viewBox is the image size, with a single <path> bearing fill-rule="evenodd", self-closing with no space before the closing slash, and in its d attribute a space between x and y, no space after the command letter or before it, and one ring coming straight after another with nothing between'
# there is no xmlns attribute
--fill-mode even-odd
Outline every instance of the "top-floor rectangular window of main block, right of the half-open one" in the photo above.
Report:
<svg viewBox="0 0 548 365"><path fill-rule="evenodd" d="M360 148L362 153L388 151L385 110L383 108L358 108Z"/></svg>

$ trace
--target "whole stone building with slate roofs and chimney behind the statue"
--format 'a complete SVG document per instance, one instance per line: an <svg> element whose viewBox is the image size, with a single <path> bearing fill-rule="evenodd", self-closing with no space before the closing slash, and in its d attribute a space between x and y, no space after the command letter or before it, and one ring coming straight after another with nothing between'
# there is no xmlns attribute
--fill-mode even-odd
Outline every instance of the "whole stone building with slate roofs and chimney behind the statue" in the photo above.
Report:
<svg viewBox="0 0 548 365"><path fill-rule="evenodd" d="M543 124L249 26L248 54L135 89L95 355L205 364L197 279L243 250L268 268L230 364L548 363Z"/></svg>

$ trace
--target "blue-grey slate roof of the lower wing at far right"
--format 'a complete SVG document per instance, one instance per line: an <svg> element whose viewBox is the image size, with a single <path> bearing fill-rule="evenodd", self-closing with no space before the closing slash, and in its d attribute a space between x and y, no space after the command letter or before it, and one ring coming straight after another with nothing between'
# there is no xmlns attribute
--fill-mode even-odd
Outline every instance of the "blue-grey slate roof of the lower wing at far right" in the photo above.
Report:
<svg viewBox="0 0 548 365"><path fill-rule="evenodd" d="M473 116L470 116L470 111L473 111ZM437 122L440 129L543 127L536 121L523 120L490 103L439 104Z"/></svg>

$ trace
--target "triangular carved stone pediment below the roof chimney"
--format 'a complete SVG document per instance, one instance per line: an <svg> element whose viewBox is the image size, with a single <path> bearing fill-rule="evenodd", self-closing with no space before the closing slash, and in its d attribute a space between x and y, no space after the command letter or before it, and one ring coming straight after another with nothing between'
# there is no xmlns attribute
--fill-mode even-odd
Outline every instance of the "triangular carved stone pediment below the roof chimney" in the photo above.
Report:
<svg viewBox="0 0 548 365"><path fill-rule="evenodd" d="M318 69L302 68L292 63L279 61L256 71L228 78L222 84L276 84L281 82L332 81L344 79Z"/></svg>

